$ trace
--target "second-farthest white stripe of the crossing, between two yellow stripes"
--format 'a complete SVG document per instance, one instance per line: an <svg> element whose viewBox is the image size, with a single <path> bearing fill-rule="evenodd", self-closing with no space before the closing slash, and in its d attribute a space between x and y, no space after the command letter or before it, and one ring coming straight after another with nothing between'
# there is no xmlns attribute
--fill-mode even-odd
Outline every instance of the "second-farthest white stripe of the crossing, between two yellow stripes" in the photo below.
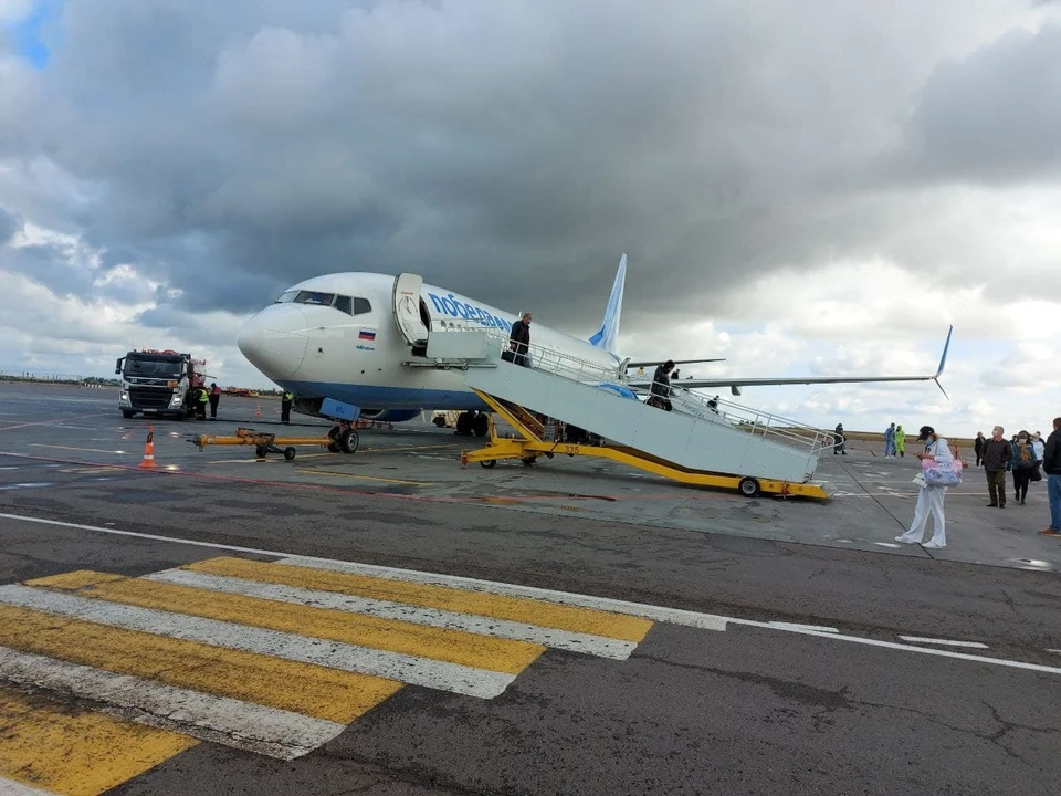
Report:
<svg viewBox="0 0 1061 796"><path fill-rule="evenodd" d="M256 652L287 661L369 674L439 691L452 691L466 696L493 699L504 692L515 679L514 674L456 663L151 608L116 605L31 586L0 586L0 603L111 628L139 630L153 636Z"/></svg>

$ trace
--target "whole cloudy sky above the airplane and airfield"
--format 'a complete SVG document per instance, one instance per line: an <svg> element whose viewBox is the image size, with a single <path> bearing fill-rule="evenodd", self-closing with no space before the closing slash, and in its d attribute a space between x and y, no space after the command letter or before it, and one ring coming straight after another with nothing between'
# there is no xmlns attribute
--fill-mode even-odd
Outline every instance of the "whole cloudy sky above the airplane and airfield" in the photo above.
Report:
<svg viewBox="0 0 1061 796"><path fill-rule="evenodd" d="M1061 415L1061 3L0 0L0 368L413 271L808 422ZM537 298L536 298L537 297Z"/></svg>

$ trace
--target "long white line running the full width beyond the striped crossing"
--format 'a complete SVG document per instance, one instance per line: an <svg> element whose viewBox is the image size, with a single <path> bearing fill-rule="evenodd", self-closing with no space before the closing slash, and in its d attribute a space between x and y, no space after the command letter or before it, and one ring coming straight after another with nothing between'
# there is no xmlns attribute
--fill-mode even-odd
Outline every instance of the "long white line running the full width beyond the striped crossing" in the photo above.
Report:
<svg viewBox="0 0 1061 796"><path fill-rule="evenodd" d="M264 549L260 547L242 547L238 545L227 545L217 542L199 542L196 540L186 540L175 536L162 536L159 534L147 534L137 531L122 531L118 528L99 527L97 525L85 525L80 523L67 523L59 520L48 520L44 517L32 517L22 514L0 513L0 519L21 521L28 523L38 523L43 525L54 525L56 527L67 527L92 533L109 534L113 536L125 536L128 538L143 538L154 542L165 542L170 544L187 545L192 547L204 547L209 549L228 551L231 553L250 553L255 555L273 556L282 562L297 562L298 566L321 568L338 567L344 572L370 573L376 577L388 579L407 579L412 583L429 583L439 585L449 585L458 588L481 590L486 594L496 591L513 596L525 596L533 599L540 599L547 603L557 603L560 605L577 605L584 607L593 607L600 610L607 610L627 616L643 617L655 621L663 621L685 627L694 627L706 630L724 631L729 625L761 628L775 630L777 632L790 632L799 636L811 636L817 638L828 638L836 641L845 641L850 643L865 645L884 649L894 649L917 654L928 654L956 660L966 660L976 663L986 663L989 666L1000 666L1011 669L1021 669L1025 671L1043 672L1047 674L1061 675L1061 667L1048 667L1038 663L1028 663L1025 661L1008 660L1005 658L990 658L986 656L967 654L955 652L953 650L933 649L928 647L915 647L892 641L879 641L871 638L858 636L848 636L844 633L824 632L809 628L797 627L770 627L768 621L756 621L752 619L739 619L714 614L702 614L698 611L683 610L679 608L666 608L663 606L652 606L641 603L630 603L627 600L611 599L607 597L593 597L589 595L579 595L569 591L555 591L551 589L542 589L533 586L518 586L513 584L502 584L491 580L479 580L475 578L465 578L453 575L440 575L434 573L416 572L411 569L398 569L393 567L381 567L369 564L354 564L351 562L342 562L332 558L319 558L311 556L292 556L288 553Z"/></svg>

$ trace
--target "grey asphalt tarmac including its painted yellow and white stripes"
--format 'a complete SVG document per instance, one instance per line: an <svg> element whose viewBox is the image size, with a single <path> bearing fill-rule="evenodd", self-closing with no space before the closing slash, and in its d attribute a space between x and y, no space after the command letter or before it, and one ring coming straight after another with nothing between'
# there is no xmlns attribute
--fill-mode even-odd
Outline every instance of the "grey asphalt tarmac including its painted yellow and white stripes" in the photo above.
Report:
<svg viewBox="0 0 1061 796"><path fill-rule="evenodd" d="M915 464L869 451L818 504L462 470L479 442L422 423L188 443L272 428L246 399L156 422L145 471L109 394L0 411L0 793L1058 792L1038 492L955 490L929 554L889 545Z"/></svg>

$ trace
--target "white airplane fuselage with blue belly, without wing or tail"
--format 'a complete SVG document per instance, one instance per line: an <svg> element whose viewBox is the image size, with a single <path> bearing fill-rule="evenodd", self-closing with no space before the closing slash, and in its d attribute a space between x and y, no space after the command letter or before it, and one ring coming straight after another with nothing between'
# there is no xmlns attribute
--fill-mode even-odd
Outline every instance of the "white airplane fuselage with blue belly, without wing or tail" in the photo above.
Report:
<svg viewBox="0 0 1061 796"><path fill-rule="evenodd" d="M396 316L395 277L337 273L300 282L240 329L238 345L254 367L300 398L334 398L366 413L423 409L485 409L459 369L411 367L417 359ZM350 300L306 303L307 294ZM420 318L429 331L489 327L507 335L517 316L432 285L420 290ZM359 300L359 301L355 301ZM369 308L370 307L370 308ZM559 350L620 378L620 358L587 341L532 322L532 345ZM423 362L427 362L426 359ZM396 418L397 419L397 418Z"/></svg>

